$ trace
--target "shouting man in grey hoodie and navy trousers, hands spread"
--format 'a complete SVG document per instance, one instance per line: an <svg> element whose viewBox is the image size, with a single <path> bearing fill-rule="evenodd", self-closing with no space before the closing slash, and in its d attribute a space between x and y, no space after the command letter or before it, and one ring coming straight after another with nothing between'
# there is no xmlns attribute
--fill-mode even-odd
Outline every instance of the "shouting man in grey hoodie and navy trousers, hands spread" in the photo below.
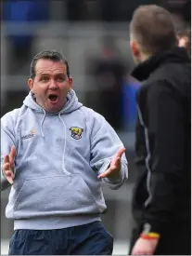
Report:
<svg viewBox="0 0 192 256"><path fill-rule="evenodd" d="M80 103L70 68L56 51L37 54L31 89L1 119L2 189L11 185L9 255L110 255L113 238L101 183L127 179L124 147L102 115Z"/></svg>

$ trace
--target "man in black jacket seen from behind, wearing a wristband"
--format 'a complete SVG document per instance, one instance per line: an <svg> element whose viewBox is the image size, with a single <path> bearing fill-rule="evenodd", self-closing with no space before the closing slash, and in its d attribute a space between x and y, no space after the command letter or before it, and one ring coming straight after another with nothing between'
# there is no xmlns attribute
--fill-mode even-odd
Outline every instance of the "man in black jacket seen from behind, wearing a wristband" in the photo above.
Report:
<svg viewBox="0 0 192 256"><path fill-rule="evenodd" d="M130 46L141 81L136 96L136 223L133 255L190 255L191 247L191 65L177 47L171 13L138 7Z"/></svg>

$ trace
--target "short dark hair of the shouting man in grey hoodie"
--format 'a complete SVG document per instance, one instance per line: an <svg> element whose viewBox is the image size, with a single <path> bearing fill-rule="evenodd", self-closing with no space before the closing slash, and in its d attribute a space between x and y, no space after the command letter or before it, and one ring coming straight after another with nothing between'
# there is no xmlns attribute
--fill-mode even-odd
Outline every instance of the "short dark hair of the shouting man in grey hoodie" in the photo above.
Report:
<svg viewBox="0 0 192 256"><path fill-rule="evenodd" d="M70 77L70 67L66 58L56 50L43 50L35 55L30 66L30 77L33 79L36 75L35 66L38 60L63 61L67 67L67 75Z"/></svg>

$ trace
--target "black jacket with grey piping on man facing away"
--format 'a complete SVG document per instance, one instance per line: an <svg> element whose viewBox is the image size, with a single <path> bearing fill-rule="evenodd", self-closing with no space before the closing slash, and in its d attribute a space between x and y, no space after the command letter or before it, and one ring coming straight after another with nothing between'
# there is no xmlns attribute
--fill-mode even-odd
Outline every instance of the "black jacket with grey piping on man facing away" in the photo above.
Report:
<svg viewBox="0 0 192 256"><path fill-rule="evenodd" d="M136 222L161 233L191 217L191 66L184 48L160 52L139 64L137 94ZM148 225L149 224L149 225Z"/></svg>

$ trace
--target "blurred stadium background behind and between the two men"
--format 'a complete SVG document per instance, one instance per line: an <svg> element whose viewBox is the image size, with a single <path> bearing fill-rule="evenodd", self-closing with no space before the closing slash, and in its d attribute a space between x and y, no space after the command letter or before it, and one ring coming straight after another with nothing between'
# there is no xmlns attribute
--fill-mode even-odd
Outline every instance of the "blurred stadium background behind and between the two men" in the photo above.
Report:
<svg viewBox="0 0 192 256"><path fill-rule="evenodd" d="M0 4L1 116L20 107L28 94L33 55L56 49L70 63L79 100L104 115L126 146L129 181L118 191L103 188L109 211L102 219L114 236L116 255L128 251L136 177L134 95L139 84L129 76L134 65L129 21L136 7L147 4L169 8L175 25L190 20L191 8L186 0L6 0ZM9 190L1 193L1 254L7 254L13 234L13 222L5 217L8 194Z"/></svg>

